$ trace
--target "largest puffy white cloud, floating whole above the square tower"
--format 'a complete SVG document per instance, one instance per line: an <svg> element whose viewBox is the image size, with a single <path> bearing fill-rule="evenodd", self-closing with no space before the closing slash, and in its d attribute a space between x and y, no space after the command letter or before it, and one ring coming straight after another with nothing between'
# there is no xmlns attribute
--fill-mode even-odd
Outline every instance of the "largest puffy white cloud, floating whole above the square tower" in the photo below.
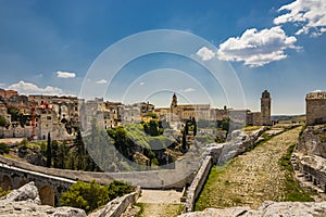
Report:
<svg viewBox="0 0 326 217"><path fill-rule="evenodd" d="M231 37L220 44L217 58L224 61L243 61L244 65L258 67L287 58L286 49L299 49L297 39L286 36L275 26L269 29L247 29L241 37Z"/></svg>

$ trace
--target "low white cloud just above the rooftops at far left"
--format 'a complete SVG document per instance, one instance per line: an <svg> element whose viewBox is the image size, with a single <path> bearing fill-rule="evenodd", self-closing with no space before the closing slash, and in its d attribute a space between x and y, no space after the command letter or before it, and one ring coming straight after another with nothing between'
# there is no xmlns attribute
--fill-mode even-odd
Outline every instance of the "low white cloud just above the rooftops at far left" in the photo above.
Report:
<svg viewBox="0 0 326 217"><path fill-rule="evenodd" d="M13 84L8 87L8 89L16 90L22 94L63 94L63 91L60 88L47 86L46 88L39 88L32 82L25 82L21 80L17 84Z"/></svg>

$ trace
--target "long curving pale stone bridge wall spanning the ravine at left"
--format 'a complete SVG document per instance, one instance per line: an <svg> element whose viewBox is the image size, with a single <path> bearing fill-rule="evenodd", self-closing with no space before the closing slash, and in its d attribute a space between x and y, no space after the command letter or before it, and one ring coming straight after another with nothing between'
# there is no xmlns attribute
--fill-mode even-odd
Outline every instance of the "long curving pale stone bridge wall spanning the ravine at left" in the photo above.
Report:
<svg viewBox="0 0 326 217"><path fill-rule="evenodd" d="M193 179L196 168L189 166L185 170L185 166L176 169L148 170L148 171L130 171L130 173L93 173L93 171L77 171L70 169L47 168L32 165L25 162L5 158L0 156L0 162L10 166L24 168L30 171L39 171L46 175L67 178L72 180L82 180L89 182L96 180L99 183L106 184L113 180L123 180L133 186L140 186L148 189L183 189ZM181 163L179 163L181 164ZM193 171L192 171L193 170Z"/></svg>

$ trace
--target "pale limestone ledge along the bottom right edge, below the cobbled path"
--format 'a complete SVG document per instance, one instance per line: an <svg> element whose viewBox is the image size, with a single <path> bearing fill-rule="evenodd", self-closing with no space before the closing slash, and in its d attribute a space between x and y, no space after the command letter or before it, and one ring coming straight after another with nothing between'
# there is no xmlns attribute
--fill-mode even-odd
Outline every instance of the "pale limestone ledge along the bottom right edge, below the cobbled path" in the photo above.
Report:
<svg viewBox="0 0 326 217"><path fill-rule="evenodd" d="M324 217L326 202L265 202L258 210L249 207L230 207L225 209L208 208L203 212L193 212L179 217Z"/></svg>

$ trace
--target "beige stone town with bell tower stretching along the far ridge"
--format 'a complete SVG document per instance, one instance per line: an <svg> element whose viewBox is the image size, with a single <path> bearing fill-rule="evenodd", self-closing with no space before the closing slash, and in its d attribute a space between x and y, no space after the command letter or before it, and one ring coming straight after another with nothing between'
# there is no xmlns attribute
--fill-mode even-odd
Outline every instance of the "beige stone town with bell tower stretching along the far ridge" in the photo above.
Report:
<svg viewBox="0 0 326 217"><path fill-rule="evenodd" d="M266 90L261 98L261 112L250 110L213 108L210 104L178 104L173 94L170 107L155 107L149 102L123 104L103 99L85 101L76 97L30 94L0 89L1 138L29 138L45 140L48 132L53 139L73 139L76 130L87 131L97 117L104 129L128 123L164 119L179 130L181 123L197 120L231 119L241 125L272 125L271 95Z"/></svg>

